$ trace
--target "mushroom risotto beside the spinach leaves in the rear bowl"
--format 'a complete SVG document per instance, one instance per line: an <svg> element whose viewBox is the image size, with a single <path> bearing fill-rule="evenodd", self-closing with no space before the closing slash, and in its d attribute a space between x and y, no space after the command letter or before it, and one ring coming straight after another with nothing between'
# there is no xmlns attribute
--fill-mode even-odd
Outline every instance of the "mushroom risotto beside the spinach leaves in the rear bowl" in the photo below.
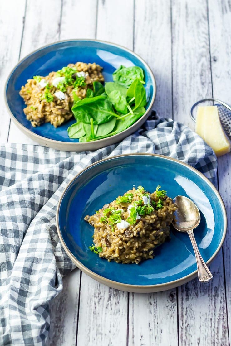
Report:
<svg viewBox="0 0 231 346"><path fill-rule="evenodd" d="M28 79L19 92L27 106L24 108L26 118L34 127L44 122L60 126L73 116L71 107L75 95L83 99L93 82L104 82L102 69L96 63L77 62L48 76Z"/></svg>

